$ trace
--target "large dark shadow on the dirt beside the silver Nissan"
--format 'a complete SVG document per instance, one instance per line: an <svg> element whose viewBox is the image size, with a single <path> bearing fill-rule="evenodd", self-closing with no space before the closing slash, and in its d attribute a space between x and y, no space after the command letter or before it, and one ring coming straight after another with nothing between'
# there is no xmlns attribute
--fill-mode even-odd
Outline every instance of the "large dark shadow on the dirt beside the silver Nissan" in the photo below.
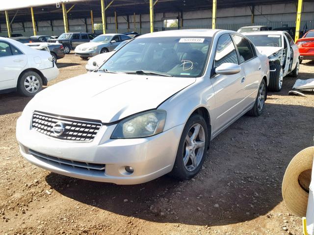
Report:
<svg viewBox="0 0 314 235"><path fill-rule="evenodd" d="M266 103L211 141L201 172L179 182L162 176L119 186L50 173L46 182L80 203L147 221L226 225L271 213L293 156L313 143L314 107ZM286 117L289 118L286 118Z"/></svg>

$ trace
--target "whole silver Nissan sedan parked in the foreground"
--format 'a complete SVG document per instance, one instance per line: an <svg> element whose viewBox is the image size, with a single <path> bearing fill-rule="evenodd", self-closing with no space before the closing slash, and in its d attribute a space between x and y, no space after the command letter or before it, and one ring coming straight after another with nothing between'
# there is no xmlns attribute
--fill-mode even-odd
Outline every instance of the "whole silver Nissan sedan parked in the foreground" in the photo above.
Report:
<svg viewBox="0 0 314 235"><path fill-rule="evenodd" d="M187 180L212 139L242 115L262 114L268 82L267 57L234 31L145 34L97 71L35 95L17 121L17 140L27 161L62 175Z"/></svg>

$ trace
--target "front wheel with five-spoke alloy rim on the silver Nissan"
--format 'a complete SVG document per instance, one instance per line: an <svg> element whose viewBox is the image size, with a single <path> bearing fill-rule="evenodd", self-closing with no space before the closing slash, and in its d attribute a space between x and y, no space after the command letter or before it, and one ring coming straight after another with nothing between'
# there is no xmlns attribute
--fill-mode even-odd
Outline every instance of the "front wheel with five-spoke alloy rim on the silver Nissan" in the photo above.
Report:
<svg viewBox="0 0 314 235"><path fill-rule="evenodd" d="M186 122L179 142L175 164L170 175L178 180L189 180L201 169L209 142L205 119L198 114Z"/></svg>

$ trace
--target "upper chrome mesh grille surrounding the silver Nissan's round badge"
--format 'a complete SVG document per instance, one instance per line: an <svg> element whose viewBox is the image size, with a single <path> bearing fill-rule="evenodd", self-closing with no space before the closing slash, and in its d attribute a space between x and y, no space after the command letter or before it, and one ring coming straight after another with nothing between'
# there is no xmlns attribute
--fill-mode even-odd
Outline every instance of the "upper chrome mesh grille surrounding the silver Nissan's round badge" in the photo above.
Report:
<svg viewBox="0 0 314 235"><path fill-rule="evenodd" d="M53 131L53 127L57 123L62 123L63 132L61 132L61 134ZM35 112L33 113L31 127L42 134L60 140L92 141L102 127L102 123L100 121L93 122L80 119L69 119L62 116L53 116Z"/></svg>

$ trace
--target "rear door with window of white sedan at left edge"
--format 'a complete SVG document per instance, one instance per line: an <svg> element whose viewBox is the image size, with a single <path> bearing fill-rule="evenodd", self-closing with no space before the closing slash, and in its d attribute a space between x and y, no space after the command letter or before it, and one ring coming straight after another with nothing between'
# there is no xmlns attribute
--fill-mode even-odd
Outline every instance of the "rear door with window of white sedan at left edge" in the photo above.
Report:
<svg viewBox="0 0 314 235"><path fill-rule="evenodd" d="M17 79L26 63L27 57L22 51L0 40L0 90L16 87Z"/></svg>

